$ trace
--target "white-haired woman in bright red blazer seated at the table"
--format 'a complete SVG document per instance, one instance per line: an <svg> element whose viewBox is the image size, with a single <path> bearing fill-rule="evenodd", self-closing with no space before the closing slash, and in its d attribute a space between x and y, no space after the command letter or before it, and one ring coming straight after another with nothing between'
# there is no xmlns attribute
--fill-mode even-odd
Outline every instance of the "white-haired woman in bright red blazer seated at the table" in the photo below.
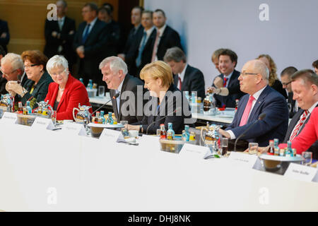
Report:
<svg viewBox="0 0 318 226"><path fill-rule="evenodd" d="M73 119L73 108L78 104L90 106L85 86L71 76L68 65L67 60L59 55L47 61L47 71L54 83L49 84L45 101L49 100L49 105L57 111L57 120Z"/></svg>

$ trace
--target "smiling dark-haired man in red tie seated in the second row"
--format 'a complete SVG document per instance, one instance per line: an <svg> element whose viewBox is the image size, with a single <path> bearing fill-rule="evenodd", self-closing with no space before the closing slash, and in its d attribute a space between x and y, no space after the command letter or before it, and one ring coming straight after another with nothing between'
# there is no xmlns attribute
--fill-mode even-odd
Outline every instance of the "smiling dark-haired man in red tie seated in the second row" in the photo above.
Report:
<svg viewBox="0 0 318 226"><path fill-rule="evenodd" d="M240 100L244 95L240 90L238 78L240 72L235 70L237 54L230 49L223 49L218 56L218 69L221 74L217 76L211 88L211 93L216 93L217 107L235 107L235 100Z"/></svg>

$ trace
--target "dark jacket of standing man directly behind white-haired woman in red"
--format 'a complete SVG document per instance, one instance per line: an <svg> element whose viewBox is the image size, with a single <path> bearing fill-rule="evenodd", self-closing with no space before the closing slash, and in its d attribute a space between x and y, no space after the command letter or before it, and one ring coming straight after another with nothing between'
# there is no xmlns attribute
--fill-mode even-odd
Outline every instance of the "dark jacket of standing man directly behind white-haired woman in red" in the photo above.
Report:
<svg viewBox="0 0 318 226"><path fill-rule="evenodd" d="M53 37L52 32L60 33L60 37ZM57 20L45 20L45 49L44 54L51 58L56 54L64 55L69 62L69 68L76 62L76 53L73 50L72 44L75 36L76 27L75 20L65 17L64 24L61 30L59 30L59 23ZM62 47L59 52L59 46Z"/></svg>

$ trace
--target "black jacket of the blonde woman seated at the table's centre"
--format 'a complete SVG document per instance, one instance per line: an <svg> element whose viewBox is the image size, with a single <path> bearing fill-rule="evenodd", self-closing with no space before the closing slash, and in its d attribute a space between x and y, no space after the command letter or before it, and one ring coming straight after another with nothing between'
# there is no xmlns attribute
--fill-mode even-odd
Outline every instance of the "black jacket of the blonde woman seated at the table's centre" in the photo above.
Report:
<svg viewBox="0 0 318 226"><path fill-rule="evenodd" d="M170 85L163 100L165 101L160 103L159 109L157 108L157 97L151 97L145 105L145 109L149 109L151 114L149 116L145 115L141 121L143 133L146 133L148 128L148 134L156 134L157 129L160 129L160 124L165 124L165 129L167 131L169 122L172 122L172 129L175 131L175 134L182 134L182 130L186 124L191 127L194 126L192 114L189 109L189 102L185 95L183 95L174 84ZM171 116L165 117L181 107L178 104L181 104L182 110L179 110Z"/></svg>

